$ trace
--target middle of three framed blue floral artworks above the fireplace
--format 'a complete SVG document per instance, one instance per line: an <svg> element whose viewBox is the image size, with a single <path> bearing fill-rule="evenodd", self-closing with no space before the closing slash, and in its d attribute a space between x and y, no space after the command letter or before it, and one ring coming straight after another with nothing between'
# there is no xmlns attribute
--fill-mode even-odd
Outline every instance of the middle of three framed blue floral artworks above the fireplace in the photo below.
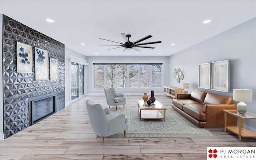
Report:
<svg viewBox="0 0 256 160"><path fill-rule="evenodd" d="M35 47L36 80L49 80L48 51Z"/></svg>

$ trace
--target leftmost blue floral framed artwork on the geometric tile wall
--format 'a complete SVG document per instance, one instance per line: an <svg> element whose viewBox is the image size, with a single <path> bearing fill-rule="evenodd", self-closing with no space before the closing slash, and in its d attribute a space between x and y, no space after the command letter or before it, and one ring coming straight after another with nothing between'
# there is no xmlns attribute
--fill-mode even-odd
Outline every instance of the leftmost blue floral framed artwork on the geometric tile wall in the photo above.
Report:
<svg viewBox="0 0 256 160"><path fill-rule="evenodd" d="M17 72L33 73L32 45L16 41Z"/></svg>

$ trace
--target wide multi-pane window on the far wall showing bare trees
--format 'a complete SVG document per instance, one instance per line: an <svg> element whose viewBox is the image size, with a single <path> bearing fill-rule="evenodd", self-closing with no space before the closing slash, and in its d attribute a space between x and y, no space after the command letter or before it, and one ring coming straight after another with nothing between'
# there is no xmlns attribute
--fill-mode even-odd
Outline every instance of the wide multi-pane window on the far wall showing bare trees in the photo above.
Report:
<svg viewBox="0 0 256 160"><path fill-rule="evenodd" d="M162 63L94 64L94 88L151 89L162 86Z"/></svg>

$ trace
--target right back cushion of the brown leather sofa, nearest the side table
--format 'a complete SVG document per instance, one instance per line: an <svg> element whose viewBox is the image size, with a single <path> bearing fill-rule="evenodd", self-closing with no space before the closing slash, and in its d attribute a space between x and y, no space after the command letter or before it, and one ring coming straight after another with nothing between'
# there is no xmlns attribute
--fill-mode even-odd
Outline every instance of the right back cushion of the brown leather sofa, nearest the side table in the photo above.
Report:
<svg viewBox="0 0 256 160"><path fill-rule="evenodd" d="M232 104L233 98L221 96L218 94L207 93L204 104Z"/></svg>

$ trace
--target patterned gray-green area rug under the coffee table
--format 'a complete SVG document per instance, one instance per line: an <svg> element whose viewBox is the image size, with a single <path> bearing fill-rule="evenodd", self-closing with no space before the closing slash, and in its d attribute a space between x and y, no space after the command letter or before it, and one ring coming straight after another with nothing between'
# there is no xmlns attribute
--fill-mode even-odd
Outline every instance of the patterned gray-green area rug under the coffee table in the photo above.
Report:
<svg viewBox="0 0 256 160"><path fill-rule="evenodd" d="M217 137L204 128L198 128L180 115L171 106L166 106L166 121L164 119L142 119L138 107L119 107L116 113L128 117L129 128L126 138L191 138L191 137ZM160 111L160 110L159 110ZM160 111L164 115L164 111ZM124 138L124 133L118 133L108 138Z"/></svg>

